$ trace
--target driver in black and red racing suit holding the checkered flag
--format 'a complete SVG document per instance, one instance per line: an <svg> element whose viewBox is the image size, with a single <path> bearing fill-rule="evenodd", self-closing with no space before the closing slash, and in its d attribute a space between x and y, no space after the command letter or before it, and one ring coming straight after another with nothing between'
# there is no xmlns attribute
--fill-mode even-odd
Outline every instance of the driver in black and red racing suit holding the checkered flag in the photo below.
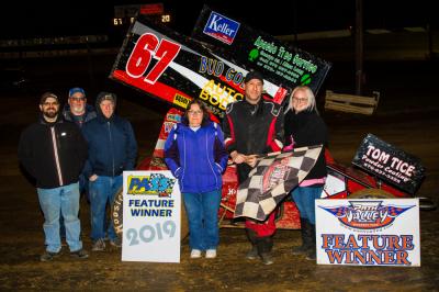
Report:
<svg viewBox="0 0 439 292"><path fill-rule="evenodd" d="M257 155L279 151L283 147L283 113L278 104L262 98L261 74L248 72L244 83L245 100L228 104L223 120L226 149L237 164L239 183L248 178ZM247 220L246 232L252 245L247 258L259 256L264 265L271 265L274 212L264 222Z"/></svg>

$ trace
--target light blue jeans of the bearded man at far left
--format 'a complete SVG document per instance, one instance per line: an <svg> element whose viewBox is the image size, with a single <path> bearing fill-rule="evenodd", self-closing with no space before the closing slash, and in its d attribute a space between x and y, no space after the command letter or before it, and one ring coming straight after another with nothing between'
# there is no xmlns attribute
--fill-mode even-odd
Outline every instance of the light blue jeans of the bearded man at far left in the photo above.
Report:
<svg viewBox="0 0 439 292"><path fill-rule="evenodd" d="M61 249L59 238L59 214L64 217L66 226L66 239L70 251L82 248L79 238L81 223L78 218L79 212L79 187L77 183L63 186L54 189L36 189L40 206L44 213L43 229L46 236L46 250L58 252Z"/></svg>

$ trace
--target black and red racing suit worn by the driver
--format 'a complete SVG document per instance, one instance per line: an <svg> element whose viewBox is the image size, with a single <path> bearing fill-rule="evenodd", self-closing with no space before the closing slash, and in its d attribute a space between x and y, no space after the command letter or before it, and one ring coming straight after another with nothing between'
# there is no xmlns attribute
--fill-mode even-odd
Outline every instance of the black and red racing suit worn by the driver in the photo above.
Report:
<svg viewBox="0 0 439 292"><path fill-rule="evenodd" d="M244 155L261 155L279 151L283 147L282 108L263 98L257 104L246 100L236 101L227 105L223 131L228 153L237 150ZM250 170L247 164L237 165L239 183L248 178ZM264 222L246 221L249 239L257 246L259 254L269 252L272 248L274 213Z"/></svg>

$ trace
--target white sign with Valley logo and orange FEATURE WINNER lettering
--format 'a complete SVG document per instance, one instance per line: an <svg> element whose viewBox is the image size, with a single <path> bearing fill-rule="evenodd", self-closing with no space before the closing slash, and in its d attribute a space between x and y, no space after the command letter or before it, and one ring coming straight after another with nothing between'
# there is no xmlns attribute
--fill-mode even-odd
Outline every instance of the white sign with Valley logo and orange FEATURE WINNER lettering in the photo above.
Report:
<svg viewBox="0 0 439 292"><path fill-rule="evenodd" d="M317 263L419 267L419 199L315 201Z"/></svg>

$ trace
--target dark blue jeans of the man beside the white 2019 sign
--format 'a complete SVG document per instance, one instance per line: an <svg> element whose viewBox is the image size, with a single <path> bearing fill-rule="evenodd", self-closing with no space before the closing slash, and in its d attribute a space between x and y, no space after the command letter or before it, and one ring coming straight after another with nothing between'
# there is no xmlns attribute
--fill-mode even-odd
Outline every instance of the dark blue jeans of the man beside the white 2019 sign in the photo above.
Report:
<svg viewBox="0 0 439 292"><path fill-rule="evenodd" d="M93 242L105 238L105 226L110 240L116 239L113 221L106 224L106 203L113 206L114 196L122 187L122 175L117 177L100 176L95 181L90 181L90 215L91 215L91 239Z"/></svg>

